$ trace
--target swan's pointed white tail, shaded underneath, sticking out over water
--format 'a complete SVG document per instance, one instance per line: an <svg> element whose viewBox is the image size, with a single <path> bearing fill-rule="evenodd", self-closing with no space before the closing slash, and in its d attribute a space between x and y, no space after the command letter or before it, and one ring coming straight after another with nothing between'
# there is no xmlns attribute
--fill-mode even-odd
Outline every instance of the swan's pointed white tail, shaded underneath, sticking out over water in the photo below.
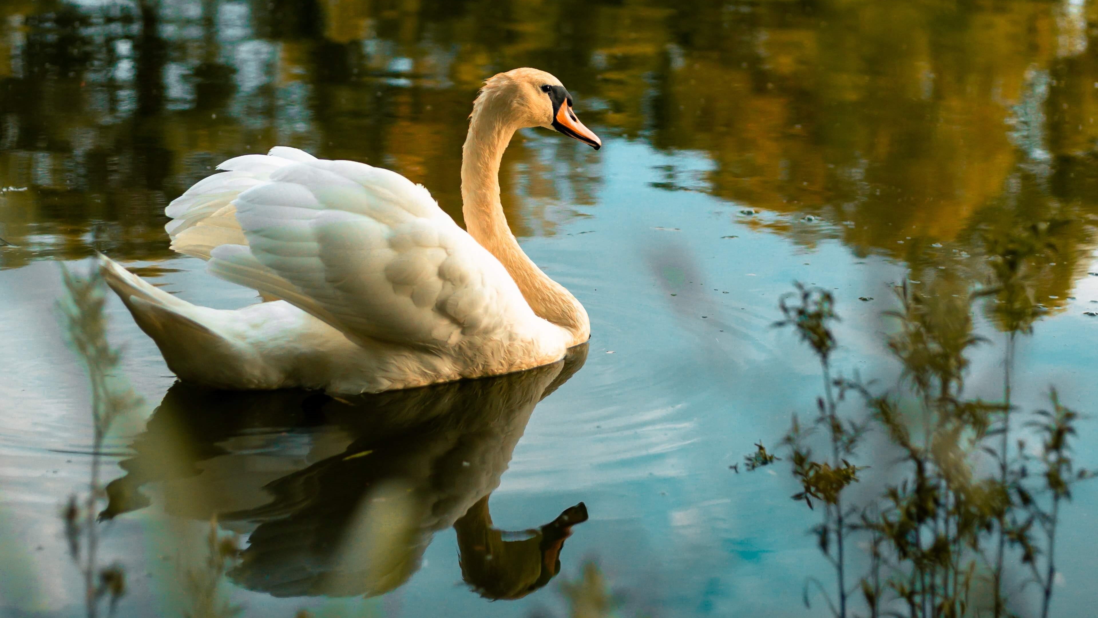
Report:
<svg viewBox="0 0 1098 618"><path fill-rule="evenodd" d="M107 284L122 299L137 326L156 341L176 375L222 387L239 389L249 382L239 373L254 366L247 361L255 352L220 327L222 312L177 299L102 254L98 260Z"/></svg>

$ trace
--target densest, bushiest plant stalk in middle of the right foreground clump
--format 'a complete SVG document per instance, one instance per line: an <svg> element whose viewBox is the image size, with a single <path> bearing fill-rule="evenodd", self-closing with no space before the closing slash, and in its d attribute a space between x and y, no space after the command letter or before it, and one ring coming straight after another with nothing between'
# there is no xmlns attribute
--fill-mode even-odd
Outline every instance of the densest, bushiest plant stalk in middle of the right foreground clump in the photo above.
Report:
<svg viewBox="0 0 1098 618"><path fill-rule="evenodd" d="M910 616L964 616L985 536L1006 508L1001 483L975 473L978 454L990 449L990 415L1000 406L964 397L965 353L983 342L972 333L970 300L907 285L897 296L900 311L887 315L900 328L888 349L904 367L901 385L881 395L858 387L874 428L898 448L908 472L863 508L858 529L872 539L871 561L888 570L885 589ZM918 413L915 419L910 412ZM877 616L881 575L861 586Z"/></svg>

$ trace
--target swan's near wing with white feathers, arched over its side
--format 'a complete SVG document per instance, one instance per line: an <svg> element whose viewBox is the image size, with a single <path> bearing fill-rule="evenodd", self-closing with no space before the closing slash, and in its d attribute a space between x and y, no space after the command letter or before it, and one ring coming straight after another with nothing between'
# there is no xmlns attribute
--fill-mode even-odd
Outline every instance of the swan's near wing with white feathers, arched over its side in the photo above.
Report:
<svg viewBox="0 0 1098 618"><path fill-rule="evenodd" d="M277 165L235 198L247 245L214 248L212 273L359 339L441 347L534 319L503 265L423 187L354 161Z"/></svg>

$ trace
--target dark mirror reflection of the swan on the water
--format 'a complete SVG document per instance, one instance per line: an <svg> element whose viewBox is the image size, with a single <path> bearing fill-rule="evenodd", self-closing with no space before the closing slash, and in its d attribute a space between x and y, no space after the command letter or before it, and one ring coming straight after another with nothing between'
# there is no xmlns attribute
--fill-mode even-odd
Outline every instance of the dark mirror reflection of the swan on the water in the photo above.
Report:
<svg viewBox="0 0 1098 618"><path fill-rule="evenodd" d="M560 572L586 507L511 532L492 526L489 496L534 407L586 353L584 345L522 373L339 400L176 383L121 463L126 474L108 485L101 517L154 503L173 517L215 517L249 535L228 576L278 597L394 589L434 533L453 526L469 586L519 598Z"/></svg>

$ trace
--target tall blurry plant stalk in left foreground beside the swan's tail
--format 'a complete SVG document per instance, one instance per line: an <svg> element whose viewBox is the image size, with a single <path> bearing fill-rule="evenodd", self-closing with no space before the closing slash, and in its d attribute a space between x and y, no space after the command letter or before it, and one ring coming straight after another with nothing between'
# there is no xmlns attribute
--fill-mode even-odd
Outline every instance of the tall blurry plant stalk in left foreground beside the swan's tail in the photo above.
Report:
<svg viewBox="0 0 1098 618"><path fill-rule="evenodd" d="M103 316L105 284L99 271L91 267L79 277L61 267L66 296L58 303L69 346L88 370L91 385L91 469L88 493L72 494L61 509L69 555L80 570L85 586L85 608L89 618L100 614L105 602L108 615L113 615L125 594L125 570L121 564L99 564L100 531L96 515L107 495L100 484L100 459L104 440L116 420L141 405L141 398L119 374L121 350L107 340L107 318Z"/></svg>

